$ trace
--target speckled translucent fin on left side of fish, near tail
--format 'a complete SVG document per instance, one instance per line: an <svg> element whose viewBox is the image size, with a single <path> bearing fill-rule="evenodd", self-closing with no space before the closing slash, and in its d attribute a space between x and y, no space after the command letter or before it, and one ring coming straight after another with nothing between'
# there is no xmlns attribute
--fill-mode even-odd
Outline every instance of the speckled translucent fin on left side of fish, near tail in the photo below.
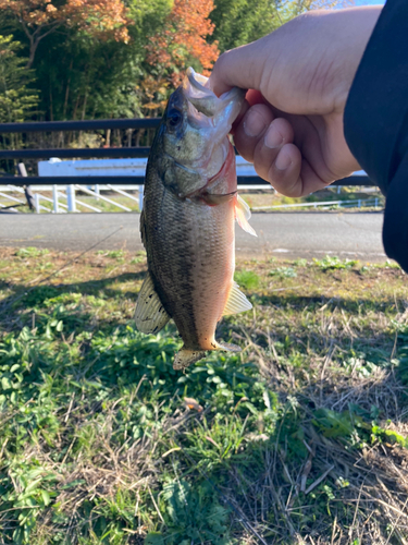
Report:
<svg viewBox="0 0 408 545"><path fill-rule="evenodd" d="M137 298L136 327L143 334L157 334L160 329L163 329L169 319L170 316L161 304L150 272L148 272Z"/></svg>

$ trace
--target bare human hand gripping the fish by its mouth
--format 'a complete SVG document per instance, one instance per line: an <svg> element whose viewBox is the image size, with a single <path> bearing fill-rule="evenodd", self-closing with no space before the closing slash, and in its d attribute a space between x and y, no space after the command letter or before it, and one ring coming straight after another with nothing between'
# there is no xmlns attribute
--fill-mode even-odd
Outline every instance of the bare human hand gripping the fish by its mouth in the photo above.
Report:
<svg viewBox="0 0 408 545"><path fill-rule="evenodd" d="M217 95L249 89L234 143L280 193L307 195L360 168L343 114L381 9L311 11L215 62Z"/></svg>

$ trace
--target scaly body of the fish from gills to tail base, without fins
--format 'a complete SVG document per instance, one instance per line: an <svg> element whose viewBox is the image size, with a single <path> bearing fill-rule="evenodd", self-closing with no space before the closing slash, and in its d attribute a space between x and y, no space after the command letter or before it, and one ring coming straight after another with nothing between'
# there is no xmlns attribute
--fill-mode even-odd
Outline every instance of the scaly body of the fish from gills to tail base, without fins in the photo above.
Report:
<svg viewBox="0 0 408 545"><path fill-rule="evenodd" d="M146 203L148 265L186 349L213 350L234 276L234 205L181 201L165 189Z"/></svg>

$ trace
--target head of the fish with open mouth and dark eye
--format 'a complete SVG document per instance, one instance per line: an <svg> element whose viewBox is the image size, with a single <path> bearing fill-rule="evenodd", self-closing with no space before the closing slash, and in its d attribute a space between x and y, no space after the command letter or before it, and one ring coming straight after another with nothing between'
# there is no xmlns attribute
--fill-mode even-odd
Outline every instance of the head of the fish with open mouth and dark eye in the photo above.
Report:
<svg viewBox="0 0 408 545"><path fill-rule="evenodd" d="M245 90L237 87L218 97L207 77L187 70L171 95L160 129L162 180L184 198L202 190L221 171L231 147L227 137L239 113Z"/></svg>

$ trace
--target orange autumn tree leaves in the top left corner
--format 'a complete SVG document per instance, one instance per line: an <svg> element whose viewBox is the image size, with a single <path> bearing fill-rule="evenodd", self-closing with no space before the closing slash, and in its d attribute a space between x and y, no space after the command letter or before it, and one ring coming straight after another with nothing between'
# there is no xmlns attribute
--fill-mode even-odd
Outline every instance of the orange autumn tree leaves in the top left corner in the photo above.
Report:
<svg viewBox="0 0 408 545"><path fill-rule="evenodd" d="M22 25L29 40L27 68L33 65L39 43L61 26L107 39L127 41L126 8L122 0L0 0L7 11Z"/></svg>

